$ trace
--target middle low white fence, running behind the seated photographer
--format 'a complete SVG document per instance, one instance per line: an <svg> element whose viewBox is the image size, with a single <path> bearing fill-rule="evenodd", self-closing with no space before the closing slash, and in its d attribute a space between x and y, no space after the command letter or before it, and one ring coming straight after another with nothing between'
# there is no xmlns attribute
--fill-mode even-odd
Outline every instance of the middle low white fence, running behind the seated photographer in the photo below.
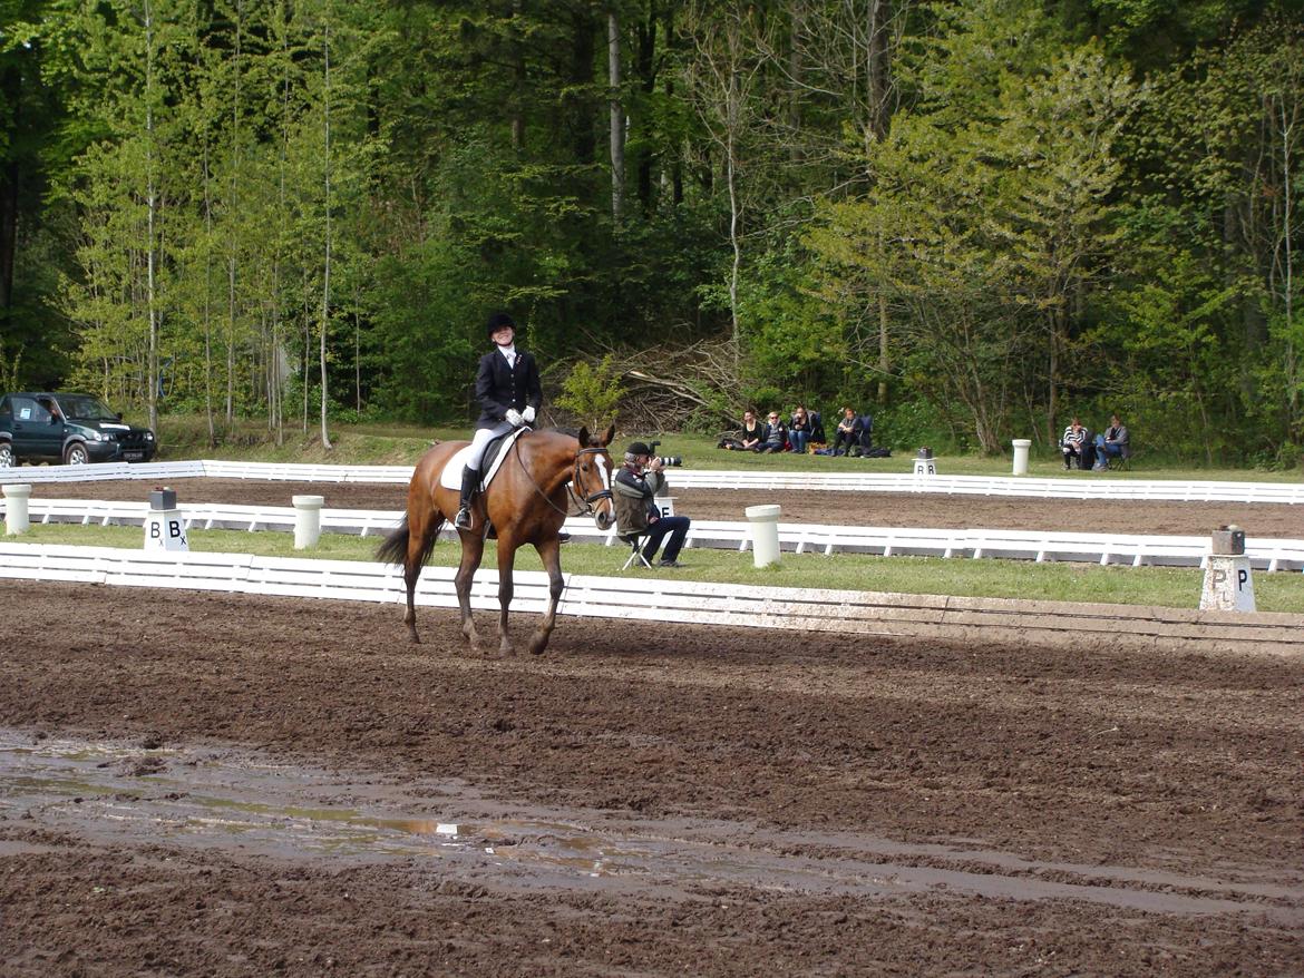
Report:
<svg viewBox="0 0 1304 978"><path fill-rule="evenodd" d="M0 499L3 510L3 499ZM233 503L179 503L185 529L243 529L293 532L293 507L240 506ZM27 505L34 523L80 523L82 526L143 526L145 502L99 499L40 499ZM391 510L321 510L321 528L327 533L385 535L403 519ZM569 519L566 531L575 541L623 546L614 529L600 531L592 518ZM445 528L442 539L455 532ZM686 546L746 552L752 545L748 523L692 520ZM909 527L837 527L803 523L778 524L780 548L790 553L867 553L883 557L1001 557L1009 559L1091 562L1204 567L1208 536L1137 536L1018 529L930 529ZM1304 570L1304 540L1248 537L1245 554L1251 567L1264 571Z"/></svg>

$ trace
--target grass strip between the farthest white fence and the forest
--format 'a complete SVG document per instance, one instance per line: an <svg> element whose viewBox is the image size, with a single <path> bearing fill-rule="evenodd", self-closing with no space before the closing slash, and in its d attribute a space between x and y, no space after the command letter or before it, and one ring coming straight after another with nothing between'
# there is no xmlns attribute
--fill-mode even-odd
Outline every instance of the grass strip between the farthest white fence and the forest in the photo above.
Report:
<svg viewBox="0 0 1304 978"><path fill-rule="evenodd" d="M224 433L219 445L207 442L207 424L197 415L168 415L159 422L159 462L179 459L240 459L245 462L303 462L326 464L411 466L436 441L469 438L468 426L425 428L398 422L360 425L331 425L333 447L326 450L316 425L305 433L301 428L286 432L283 445L275 445L266 424L240 421L236 429ZM845 459L818 455L752 455L750 452L721 451L716 438L677 432L621 433L615 449L634 438L660 439L657 450L662 455L682 455L683 464L695 469L758 469L773 472L910 472L914 449L896 450L889 459ZM941 475L1008 476L1009 456L941 455L936 460ZM1300 472L1269 472L1253 468L1197 468L1189 464L1170 464L1150 454L1142 455L1128 472L1065 472L1059 454L1054 450L1037 452L1029 462L1029 475L1034 477L1064 477L1076 480L1114 481L1125 479L1174 479L1214 481L1299 481Z"/></svg>

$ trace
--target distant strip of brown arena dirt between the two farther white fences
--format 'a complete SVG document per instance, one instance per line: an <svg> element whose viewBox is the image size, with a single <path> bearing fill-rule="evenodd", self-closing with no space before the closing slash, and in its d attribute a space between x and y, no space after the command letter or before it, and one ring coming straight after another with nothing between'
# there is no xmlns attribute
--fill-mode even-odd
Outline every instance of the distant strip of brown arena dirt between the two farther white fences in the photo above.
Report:
<svg viewBox="0 0 1304 978"><path fill-rule="evenodd" d="M674 490L674 473L670 473ZM289 506L295 494L317 494L334 509L402 510L407 486L338 482L270 482L239 479L180 479L168 485L180 502L228 502ZM42 484L35 498L149 498L140 481ZM1074 529L1084 532L1171 533L1204 536L1235 523L1251 537L1304 537L1304 507L1274 503L1107 502L914 493L765 492L735 489L674 490L675 510L698 519L746 519L747 506L778 502L782 520L831 526L938 527L982 529Z"/></svg>

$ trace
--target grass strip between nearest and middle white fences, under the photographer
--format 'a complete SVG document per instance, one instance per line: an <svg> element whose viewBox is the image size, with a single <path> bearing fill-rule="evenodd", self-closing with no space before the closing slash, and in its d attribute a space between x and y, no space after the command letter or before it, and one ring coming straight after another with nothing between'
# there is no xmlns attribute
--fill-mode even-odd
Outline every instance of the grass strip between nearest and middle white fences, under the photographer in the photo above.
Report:
<svg viewBox="0 0 1304 978"><path fill-rule="evenodd" d="M22 542L78 546L140 548L138 527L34 526ZM310 552L293 549L292 533L246 533L232 529L192 529L192 550L252 553L265 557L314 557L338 561L372 561L378 537L361 539L323 533ZM454 566L459 549L450 541L434 548L432 563ZM567 544L562 569L583 574L617 574L627 552L622 546ZM868 557L862 554L784 554L778 566L758 569L751 553L735 550L685 550L687 566L678 570L626 571L627 576L673 574L685 580L709 580L781 588L832 588L837 591L896 591L913 595L961 595L1017 597L1043 601L1098 601L1104 604L1197 608L1202 571L1180 567L1099 567L1088 563L1034 563L1001 559L943 559L940 557ZM494 549L485 549L485 566L496 566ZM533 549L518 553L519 570L541 570ZM1254 575L1254 596L1261 612L1304 613L1304 574L1278 571Z"/></svg>

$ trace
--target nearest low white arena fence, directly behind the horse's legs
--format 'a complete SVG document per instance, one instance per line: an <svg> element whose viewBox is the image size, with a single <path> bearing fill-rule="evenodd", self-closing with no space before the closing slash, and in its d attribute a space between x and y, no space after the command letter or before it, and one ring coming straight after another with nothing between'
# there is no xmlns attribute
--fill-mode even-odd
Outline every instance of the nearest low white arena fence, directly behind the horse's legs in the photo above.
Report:
<svg viewBox="0 0 1304 978"><path fill-rule="evenodd" d="M451 567L428 567L415 601L456 608ZM391 602L403 634L404 588L396 569L360 561L250 554L168 553L0 541L0 580L82 582L342 601ZM730 625L878 636L974 638L1029 643L1101 642L1118 648L1181 648L1231 655L1304 655L1304 615L1198 612L1127 605L746 587L677 580L565 575L565 615ZM542 613L548 575L519 571L514 612ZM472 608L497 610L496 571L476 575ZM180 613L180 612L179 612ZM430 623L426 623L430 627Z"/></svg>

